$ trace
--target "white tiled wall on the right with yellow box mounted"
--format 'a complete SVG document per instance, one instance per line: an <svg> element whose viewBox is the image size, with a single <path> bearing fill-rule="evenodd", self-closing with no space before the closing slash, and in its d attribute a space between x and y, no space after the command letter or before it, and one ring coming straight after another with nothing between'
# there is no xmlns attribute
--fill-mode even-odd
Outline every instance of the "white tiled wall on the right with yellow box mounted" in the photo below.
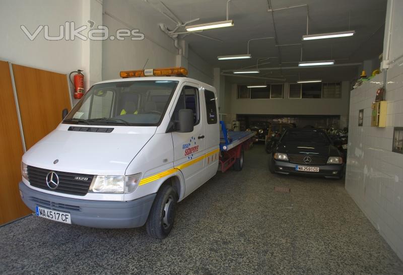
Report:
<svg viewBox="0 0 403 275"><path fill-rule="evenodd" d="M380 74L351 92L346 189L403 259L403 154L392 152L393 127L403 127L403 61L387 71L386 127L371 127L371 103L382 85Z"/></svg>

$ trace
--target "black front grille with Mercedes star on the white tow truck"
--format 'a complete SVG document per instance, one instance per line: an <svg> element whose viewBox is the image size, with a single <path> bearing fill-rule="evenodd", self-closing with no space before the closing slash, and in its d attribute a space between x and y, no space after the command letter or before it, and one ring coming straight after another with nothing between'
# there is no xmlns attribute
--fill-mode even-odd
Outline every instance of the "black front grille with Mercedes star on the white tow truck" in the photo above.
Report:
<svg viewBox="0 0 403 275"><path fill-rule="evenodd" d="M53 170L47 170L37 167L28 166L28 179L31 186L46 189L54 192L84 196L90 188L94 175L67 173L53 171L59 178L59 185L56 189L50 189L46 184L46 175ZM76 177L87 178L86 180L78 180Z"/></svg>

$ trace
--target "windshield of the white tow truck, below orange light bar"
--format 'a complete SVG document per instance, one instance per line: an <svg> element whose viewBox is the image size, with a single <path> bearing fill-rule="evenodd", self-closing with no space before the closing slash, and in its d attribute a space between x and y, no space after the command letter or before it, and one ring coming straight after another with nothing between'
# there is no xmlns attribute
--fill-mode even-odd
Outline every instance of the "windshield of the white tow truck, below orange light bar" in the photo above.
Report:
<svg viewBox="0 0 403 275"><path fill-rule="evenodd" d="M63 123L157 126L177 81L122 81L94 85Z"/></svg>

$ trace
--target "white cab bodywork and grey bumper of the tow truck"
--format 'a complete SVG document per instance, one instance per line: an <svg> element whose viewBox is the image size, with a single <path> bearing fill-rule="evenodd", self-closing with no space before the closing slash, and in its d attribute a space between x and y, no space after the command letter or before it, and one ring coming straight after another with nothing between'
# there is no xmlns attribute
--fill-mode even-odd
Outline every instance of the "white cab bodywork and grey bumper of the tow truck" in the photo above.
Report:
<svg viewBox="0 0 403 275"><path fill-rule="evenodd" d="M39 202L33 200L37 196L41 203L56 203L53 207L61 212L63 203L80 207L80 211L71 212L74 224L102 228L138 227L144 225L154 197L167 179L178 191L180 201L216 174L220 155L220 124L218 117L216 123L208 124L205 101L205 90L209 90L214 93L217 103L216 89L184 77L128 78L97 84L144 80L178 81L159 126L60 123L22 158L28 166L49 171L95 176L141 173L135 191L126 194L87 192L85 195L73 195L31 186L23 178L20 191L30 209L38 205ZM182 88L186 85L197 88L199 122L194 125L192 132L182 133L168 128L172 124ZM218 115L217 106L215 112ZM113 128L113 131L72 131L69 130L71 126ZM198 146L198 150L188 154L185 150L189 146ZM58 161L54 163L55 160Z"/></svg>

